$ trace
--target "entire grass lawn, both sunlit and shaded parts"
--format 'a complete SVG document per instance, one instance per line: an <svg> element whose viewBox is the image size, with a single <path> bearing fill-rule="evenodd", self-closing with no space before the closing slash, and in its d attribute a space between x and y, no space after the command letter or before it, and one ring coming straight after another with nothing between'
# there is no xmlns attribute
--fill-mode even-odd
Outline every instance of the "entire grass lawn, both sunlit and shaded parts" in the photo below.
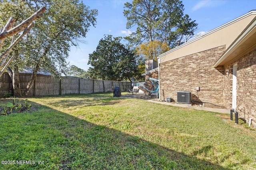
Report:
<svg viewBox="0 0 256 170"><path fill-rule="evenodd" d="M226 114L112 93L28 101L0 116L1 170L256 169L255 129Z"/></svg>

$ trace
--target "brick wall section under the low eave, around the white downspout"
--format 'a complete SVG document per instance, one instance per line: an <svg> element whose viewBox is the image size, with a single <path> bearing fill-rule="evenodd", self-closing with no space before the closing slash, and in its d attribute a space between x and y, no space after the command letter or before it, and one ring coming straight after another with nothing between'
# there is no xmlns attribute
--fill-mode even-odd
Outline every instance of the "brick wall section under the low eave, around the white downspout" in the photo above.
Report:
<svg viewBox="0 0 256 170"><path fill-rule="evenodd" d="M256 127L256 49L225 67L230 72L226 74L227 86L225 86L226 96L224 97L227 108L232 107L232 68L234 64L237 64L236 111L238 117L246 120L247 123L249 118L252 118L252 125Z"/></svg>

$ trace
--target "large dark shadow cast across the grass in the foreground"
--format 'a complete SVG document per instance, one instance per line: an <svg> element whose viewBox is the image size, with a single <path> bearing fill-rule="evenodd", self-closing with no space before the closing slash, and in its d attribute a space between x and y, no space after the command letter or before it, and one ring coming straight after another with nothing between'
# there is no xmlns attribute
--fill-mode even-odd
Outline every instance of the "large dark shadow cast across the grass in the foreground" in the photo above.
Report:
<svg viewBox="0 0 256 170"><path fill-rule="evenodd" d="M0 121L1 160L27 161L4 164L0 169L228 170L46 106L32 113L1 116ZM208 149L211 146L198 152Z"/></svg>

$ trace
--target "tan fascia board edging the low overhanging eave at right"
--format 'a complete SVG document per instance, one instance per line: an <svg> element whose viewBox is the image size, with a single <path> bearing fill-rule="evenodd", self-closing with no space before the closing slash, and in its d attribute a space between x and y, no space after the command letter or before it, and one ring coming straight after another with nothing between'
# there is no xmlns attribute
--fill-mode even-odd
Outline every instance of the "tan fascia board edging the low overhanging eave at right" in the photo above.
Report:
<svg viewBox="0 0 256 170"><path fill-rule="evenodd" d="M226 49L226 51L222 54L222 56L216 61L214 64L214 68L219 66L227 57L230 55L236 47L238 47L241 43L246 41L247 35L249 35L256 28L256 17L252 20L252 22L244 29L244 31L235 39L235 41Z"/></svg>

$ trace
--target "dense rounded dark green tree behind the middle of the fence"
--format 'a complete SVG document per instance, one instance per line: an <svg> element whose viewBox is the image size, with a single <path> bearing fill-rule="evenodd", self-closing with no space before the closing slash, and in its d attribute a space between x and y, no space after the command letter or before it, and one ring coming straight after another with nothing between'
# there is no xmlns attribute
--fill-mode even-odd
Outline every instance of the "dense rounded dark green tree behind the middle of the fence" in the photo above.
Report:
<svg viewBox="0 0 256 170"><path fill-rule="evenodd" d="M100 40L96 51L89 54L92 67L88 69L90 78L102 80L131 80L138 70L134 52L126 48L121 37L105 35Z"/></svg>

